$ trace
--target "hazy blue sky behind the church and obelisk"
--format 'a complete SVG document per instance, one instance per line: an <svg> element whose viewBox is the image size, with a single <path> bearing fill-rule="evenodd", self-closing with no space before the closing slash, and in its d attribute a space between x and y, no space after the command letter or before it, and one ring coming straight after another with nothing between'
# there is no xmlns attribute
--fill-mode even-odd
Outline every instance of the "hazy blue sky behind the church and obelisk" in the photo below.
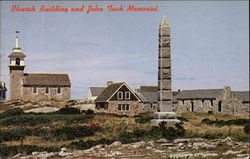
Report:
<svg viewBox="0 0 250 159"><path fill-rule="evenodd" d="M9 88L8 55L19 44L26 73L67 73L73 99L91 86L126 82L132 89L157 85L158 31L171 26L172 89L231 86L249 90L248 1L0 1L0 80ZM36 12L12 12L13 5ZM65 12L39 12L58 5ZM71 8L84 5L84 11ZM102 12L86 13L89 5ZM109 12L108 5L122 7ZM129 5L157 11L128 12Z"/></svg>

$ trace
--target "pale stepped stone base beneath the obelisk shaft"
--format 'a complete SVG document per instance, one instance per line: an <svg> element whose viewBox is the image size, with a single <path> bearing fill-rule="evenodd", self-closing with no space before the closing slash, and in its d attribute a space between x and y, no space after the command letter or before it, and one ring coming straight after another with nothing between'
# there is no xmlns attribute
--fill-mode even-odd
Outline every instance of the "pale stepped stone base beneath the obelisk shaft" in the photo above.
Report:
<svg viewBox="0 0 250 159"><path fill-rule="evenodd" d="M180 122L177 119L175 112L155 112L155 119L150 121L153 124L160 124L166 122L166 125L175 125Z"/></svg>

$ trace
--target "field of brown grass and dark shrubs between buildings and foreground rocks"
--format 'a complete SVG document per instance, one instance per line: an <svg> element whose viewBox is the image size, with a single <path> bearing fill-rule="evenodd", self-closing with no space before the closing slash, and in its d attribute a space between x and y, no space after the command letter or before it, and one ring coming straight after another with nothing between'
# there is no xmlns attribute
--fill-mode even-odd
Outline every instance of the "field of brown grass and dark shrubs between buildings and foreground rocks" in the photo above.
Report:
<svg viewBox="0 0 250 159"><path fill-rule="evenodd" d="M6 110L6 107L0 109ZM21 109L2 111L0 154L9 156L18 152L56 151L65 146L89 148L96 144L110 144L116 140L129 143L169 137L169 134L162 133L161 127L148 122L153 116L152 113L139 117L126 117L92 112L81 113L78 110L71 110L70 113L67 111L50 114L24 113ZM176 135L174 138L216 139L230 136L234 141L249 141L249 136L243 130L246 123L249 123L248 116L206 113L177 115L182 120L185 134ZM204 119L210 124L204 123ZM217 121L217 124L211 124L211 121L214 123ZM218 121L224 121L224 124L220 125ZM164 128L163 131L170 134L180 132L179 128L173 129Z"/></svg>

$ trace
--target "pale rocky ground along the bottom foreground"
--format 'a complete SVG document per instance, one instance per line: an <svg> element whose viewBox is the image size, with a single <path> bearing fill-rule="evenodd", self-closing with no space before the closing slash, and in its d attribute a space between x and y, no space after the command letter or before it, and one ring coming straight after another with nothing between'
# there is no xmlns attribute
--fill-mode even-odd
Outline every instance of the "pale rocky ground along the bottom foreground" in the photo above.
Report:
<svg viewBox="0 0 250 159"><path fill-rule="evenodd" d="M226 139L206 140L202 138L175 139L168 141L141 141L121 144L116 141L111 145L97 145L87 150L70 150L62 148L60 152L32 152L31 155L17 154L13 159L46 159L46 158L222 158L249 159L249 143L234 142Z"/></svg>

